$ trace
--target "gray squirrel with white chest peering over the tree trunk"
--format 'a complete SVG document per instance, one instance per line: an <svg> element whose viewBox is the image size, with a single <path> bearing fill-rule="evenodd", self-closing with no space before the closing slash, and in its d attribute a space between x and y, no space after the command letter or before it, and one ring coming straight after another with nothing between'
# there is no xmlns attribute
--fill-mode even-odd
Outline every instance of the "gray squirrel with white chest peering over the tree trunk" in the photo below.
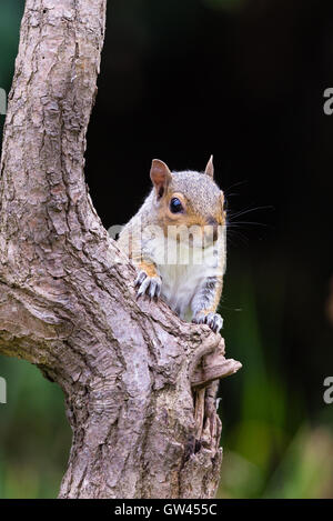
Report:
<svg viewBox="0 0 333 521"><path fill-rule="evenodd" d="M170 171L154 159L153 188L118 242L138 268L137 295L164 300L183 320L223 327L216 313L226 264L226 211L214 179L204 172Z"/></svg>

